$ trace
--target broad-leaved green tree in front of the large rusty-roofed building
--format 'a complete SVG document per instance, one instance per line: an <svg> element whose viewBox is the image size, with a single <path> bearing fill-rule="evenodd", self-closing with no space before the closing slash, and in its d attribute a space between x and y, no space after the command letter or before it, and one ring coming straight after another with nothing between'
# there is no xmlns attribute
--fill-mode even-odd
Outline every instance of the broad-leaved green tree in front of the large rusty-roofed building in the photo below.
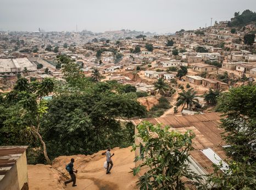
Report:
<svg viewBox="0 0 256 190"><path fill-rule="evenodd" d="M143 167L148 171L139 177L137 185L140 189L185 189L185 183L198 186L201 177L189 169L189 153L193 150L194 134L187 131L184 135L169 131L169 127L142 122L137 126L137 138L143 143L134 144L132 150L141 148L141 155L135 161L142 164L132 169L137 175Z"/></svg>

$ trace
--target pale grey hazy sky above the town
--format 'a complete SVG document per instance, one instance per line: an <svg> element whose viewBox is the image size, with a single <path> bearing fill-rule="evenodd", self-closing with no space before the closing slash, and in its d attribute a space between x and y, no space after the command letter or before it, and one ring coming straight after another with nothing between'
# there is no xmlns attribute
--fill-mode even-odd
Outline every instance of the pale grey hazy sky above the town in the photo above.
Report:
<svg viewBox="0 0 256 190"><path fill-rule="evenodd" d="M0 0L0 30L175 32L255 12L256 0Z"/></svg>

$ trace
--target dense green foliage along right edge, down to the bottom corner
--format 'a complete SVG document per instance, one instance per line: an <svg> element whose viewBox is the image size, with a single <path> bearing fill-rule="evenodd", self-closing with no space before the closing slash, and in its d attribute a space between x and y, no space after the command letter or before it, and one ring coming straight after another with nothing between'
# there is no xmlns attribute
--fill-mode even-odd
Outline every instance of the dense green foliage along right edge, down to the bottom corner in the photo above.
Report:
<svg viewBox="0 0 256 190"><path fill-rule="evenodd" d="M256 85L231 88L219 97L219 111L225 114L221 127L229 168L220 172L214 165L208 184L215 189L254 189L256 182Z"/></svg>

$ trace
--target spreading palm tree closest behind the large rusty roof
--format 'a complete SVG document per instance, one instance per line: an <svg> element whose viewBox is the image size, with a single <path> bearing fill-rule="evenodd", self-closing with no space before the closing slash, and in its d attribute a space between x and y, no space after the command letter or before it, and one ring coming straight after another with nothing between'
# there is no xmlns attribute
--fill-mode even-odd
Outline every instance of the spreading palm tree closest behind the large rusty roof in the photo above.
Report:
<svg viewBox="0 0 256 190"><path fill-rule="evenodd" d="M197 92L194 91L193 88L191 88L187 92L185 90L182 90L182 92L179 93L180 96L177 98L176 106L179 107L180 105L183 105L182 110L184 109L186 104L188 109L191 109L193 104L200 106L200 104L198 103L198 99L196 98L196 93Z"/></svg>

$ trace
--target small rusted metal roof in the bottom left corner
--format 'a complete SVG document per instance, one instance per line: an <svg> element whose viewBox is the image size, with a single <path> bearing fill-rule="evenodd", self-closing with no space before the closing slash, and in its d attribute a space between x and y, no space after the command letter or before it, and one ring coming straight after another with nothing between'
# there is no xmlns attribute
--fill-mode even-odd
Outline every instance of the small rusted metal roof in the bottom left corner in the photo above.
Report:
<svg viewBox="0 0 256 190"><path fill-rule="evenodd" d="M0 146L0 181L28 146Z"/></svg>

